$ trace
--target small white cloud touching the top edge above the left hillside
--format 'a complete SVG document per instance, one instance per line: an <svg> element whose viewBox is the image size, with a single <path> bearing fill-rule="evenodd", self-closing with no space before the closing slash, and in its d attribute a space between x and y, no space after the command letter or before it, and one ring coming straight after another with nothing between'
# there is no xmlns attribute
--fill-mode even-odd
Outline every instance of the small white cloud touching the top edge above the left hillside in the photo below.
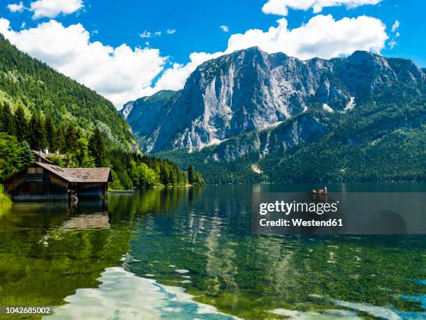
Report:
<svg viewBox="0 0 426 320"><path fill-rule="evenodd" d="M38 0L31 2L30 9L33 11L33 19L41 17L56 17L61 13L69 15L83 8L83 0Z"/></svg>

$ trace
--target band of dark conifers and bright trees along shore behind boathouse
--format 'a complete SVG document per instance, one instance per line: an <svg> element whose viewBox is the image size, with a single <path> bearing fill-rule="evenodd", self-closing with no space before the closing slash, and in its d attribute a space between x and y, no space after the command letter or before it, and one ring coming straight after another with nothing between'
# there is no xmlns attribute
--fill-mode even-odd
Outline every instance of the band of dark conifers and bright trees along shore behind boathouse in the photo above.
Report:
<svg viewBox="0 0 426 320"><path fill-rule="evenodd" d="M0 181L33 162L31 148L48 147L52 151L66 152L65 160L55 155L51 158L52 164L59 167L112 167L113 176L118 181L111 188L187 184L184 173L168 160L108 151L99 128L86 139L72 122L66 127L55 125L51 117L45 119L41 113L33 114L28 121L22 105L17 106L15 114L8 105L0 105L0 129L0 155L4 158L0 161ZM14 132L14 135L8 135L8 132Z"/></svg>

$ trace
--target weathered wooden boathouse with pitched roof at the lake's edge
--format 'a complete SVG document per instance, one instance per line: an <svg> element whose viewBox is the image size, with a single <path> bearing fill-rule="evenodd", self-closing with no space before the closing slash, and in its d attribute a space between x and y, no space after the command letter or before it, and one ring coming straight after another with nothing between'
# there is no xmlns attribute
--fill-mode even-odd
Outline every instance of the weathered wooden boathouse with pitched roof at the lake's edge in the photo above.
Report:
<svg viewBox="0 0 426 320"><path fill-rule="evenodd" d="M4 180L13 201L61 201L107 196L110 168L61 168L34 162Z"/></svg>

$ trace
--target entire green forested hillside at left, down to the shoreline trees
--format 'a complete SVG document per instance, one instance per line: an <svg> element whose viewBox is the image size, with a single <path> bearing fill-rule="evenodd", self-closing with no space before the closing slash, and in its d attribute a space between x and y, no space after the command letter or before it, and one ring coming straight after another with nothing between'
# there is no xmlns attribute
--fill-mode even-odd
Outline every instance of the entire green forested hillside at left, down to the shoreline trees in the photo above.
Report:
<svg viewBox="0 0 426 320"><path fill-rule="evenodd" d="M57 165L112 167L113 189L187 183L173 163L139 153L111 102L0 35L0 182L40 148L66 153Z"/></svg>

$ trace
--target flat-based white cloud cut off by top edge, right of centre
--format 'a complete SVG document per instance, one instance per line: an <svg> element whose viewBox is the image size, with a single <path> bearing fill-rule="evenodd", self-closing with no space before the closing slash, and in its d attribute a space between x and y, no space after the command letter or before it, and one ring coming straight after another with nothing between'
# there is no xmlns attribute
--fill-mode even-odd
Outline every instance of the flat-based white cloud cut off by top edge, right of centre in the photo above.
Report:
<svg viewBox="0 0 426 320"><path fill-rule="evenodd" d="M333 6L346 6L356 8L366 4L377 4L381 0L268 0L262 6L263 13L272 15L287 15L288 9L308 10L313 8L314 13L320 13L323 8Z"/></svg>

